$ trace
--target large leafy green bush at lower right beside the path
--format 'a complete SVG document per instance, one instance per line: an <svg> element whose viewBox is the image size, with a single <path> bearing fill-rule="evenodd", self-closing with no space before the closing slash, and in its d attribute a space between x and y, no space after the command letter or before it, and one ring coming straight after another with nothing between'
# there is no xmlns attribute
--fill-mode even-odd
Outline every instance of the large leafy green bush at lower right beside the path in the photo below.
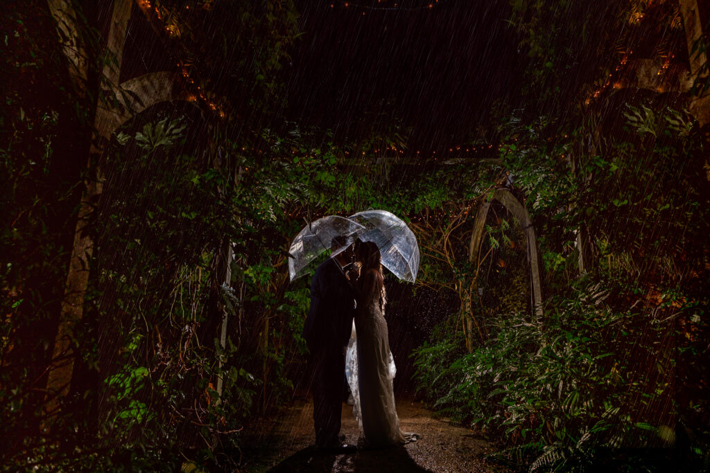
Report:
<svg viewBox="0 0 710 473"><path fill-rule="evenodd" d="M544 319L498 316L493 338L465 355L451 337L420 347L419 389L531 471L599 467L609 449L672 445L674 323L668 311L614 311L609 296L596 285L552 300Z"/></svg>

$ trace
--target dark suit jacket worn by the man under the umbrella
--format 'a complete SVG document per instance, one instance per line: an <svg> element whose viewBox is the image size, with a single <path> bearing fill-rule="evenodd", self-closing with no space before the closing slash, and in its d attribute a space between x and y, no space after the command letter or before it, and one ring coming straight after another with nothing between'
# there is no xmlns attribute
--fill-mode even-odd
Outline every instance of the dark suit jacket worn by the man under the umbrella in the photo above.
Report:
<svg viewBox="0 0 710 473"><path fill-rule="evenodd" d="M347 345L355 315L355 290L336 260L328 258L317 267L310 297L303 325L308 349L338 350Z"/></svg>

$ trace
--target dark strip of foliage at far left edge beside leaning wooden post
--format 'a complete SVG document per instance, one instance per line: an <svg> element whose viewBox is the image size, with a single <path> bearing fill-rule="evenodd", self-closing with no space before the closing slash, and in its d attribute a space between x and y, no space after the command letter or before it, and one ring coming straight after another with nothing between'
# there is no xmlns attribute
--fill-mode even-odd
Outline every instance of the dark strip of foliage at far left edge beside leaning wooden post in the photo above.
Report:
<svg viewBox="0 0 710 473"><path fill-rule="evenodd" d="M88 145L90 97L77 94L68 80L46 2L9 1L3 7L0 464L47 471L48 457L56 457L64 461L55 469L69 470L77 462L62 442L84 438L89 420L64 413L48 418L42 406L72 243L67 229L75 224L75 189L86 163L80 156ZM77 24L89 29L82 18ZM40 421L53 430L43 435Z"/></svg>

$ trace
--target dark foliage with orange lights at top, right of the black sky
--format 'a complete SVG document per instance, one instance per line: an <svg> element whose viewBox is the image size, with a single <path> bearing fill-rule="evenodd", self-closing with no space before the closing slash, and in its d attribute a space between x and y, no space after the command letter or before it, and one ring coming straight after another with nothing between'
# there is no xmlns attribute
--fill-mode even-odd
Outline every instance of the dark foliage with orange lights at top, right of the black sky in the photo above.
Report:
<svg viewBox="0 0 710 473"><path fill-rule="evenodd" d="M520 81L522 104L535 115L574 123L576 113L589 113L595 99L613 94L614 82L629 72L625 65L687 51L680 9L670 1L509 4L508 23L518 34L519 52L528 56ZM698 40L694 50L705 44Z"/></svg>

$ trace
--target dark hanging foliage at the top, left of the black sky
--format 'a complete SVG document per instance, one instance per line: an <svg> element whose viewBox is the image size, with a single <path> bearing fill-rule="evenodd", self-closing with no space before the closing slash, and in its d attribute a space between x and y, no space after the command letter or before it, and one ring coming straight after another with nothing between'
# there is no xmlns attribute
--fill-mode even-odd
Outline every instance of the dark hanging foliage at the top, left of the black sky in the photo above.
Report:
<svg viewBox="0 0 710 473"><path fill-rule="evenodd" d="M158 0L156 6L169 18L170 47L195 83L192 92L258 135L263 117L285 105L280 70L300 36L293 0L211 1L192 9Z"/></svg>

